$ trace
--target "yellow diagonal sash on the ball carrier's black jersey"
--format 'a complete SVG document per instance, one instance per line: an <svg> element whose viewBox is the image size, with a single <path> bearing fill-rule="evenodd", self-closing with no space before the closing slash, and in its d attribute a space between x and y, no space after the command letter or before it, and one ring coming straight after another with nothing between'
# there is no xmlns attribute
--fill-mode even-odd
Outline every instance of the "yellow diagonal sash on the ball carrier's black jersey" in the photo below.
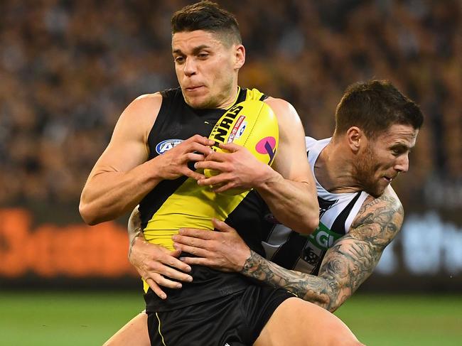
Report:
<svg viewBox="0 0 462 346"><path fill-rule="evenodd" d="M260 99L262 95L257 89L247 90L246 100ZM214 193L209 187L200 186L195 179L188 178L151 217L144 228L144 237L150 243L173 250L171 237L178 234L178 229L213 230L211 219L225 221L247 193L249 191L239 195ZM148 288L144 282L144 291L147 292Z"/></svg>

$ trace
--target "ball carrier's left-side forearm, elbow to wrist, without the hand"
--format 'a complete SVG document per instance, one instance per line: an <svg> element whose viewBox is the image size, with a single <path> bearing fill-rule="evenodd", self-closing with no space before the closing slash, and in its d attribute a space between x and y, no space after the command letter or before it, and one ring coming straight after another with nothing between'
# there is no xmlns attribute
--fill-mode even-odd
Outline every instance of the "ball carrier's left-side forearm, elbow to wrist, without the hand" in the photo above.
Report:
<svg viewBox="0 0 462 346"><path fill-rule="evenodd" d="M87 181L80 198L80 215L87 224L113 220L133 209L160 181L151 161L128 172L102 172Z"/></svg>

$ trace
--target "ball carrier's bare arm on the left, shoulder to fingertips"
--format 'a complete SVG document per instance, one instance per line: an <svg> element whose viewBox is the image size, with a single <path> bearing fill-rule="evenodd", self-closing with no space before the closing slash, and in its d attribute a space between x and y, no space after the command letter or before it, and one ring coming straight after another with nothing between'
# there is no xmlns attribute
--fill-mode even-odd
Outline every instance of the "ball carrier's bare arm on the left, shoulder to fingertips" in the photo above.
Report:
<svg viewBox="0 0 462 346"><path fill-rule="evenodd" d="M98 159L80 197L80 215L90 225L112 220L132 210L161 180L187 175L203 178L187 167L203 160L213 141L193 136L149 161L147 138L161 107L161 94L135 99L124 110L111 141Z"/></svg>

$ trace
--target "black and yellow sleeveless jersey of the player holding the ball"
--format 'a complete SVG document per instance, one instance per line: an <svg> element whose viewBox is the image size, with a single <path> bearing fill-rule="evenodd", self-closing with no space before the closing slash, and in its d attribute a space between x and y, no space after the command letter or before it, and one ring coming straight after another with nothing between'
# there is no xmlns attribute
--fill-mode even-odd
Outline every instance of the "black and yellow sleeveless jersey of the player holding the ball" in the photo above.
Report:
<svg viewBox="0 0 462 346"><path fill-rule="evenodd" d="M193 109L184 101L180 88L163 91L161 95L161 109L148 137L149 159L195 134L209 136L227 110ZM239 89L234 104L245 99L265 98L258 90ZM192 165L189 168L194 169ZM141 225L148 242L173 249L171 236L178 233L179 228L213 230L211 218L215 217L237 229L249 247L259 254L264 254L261 243L264 209L264 201L254 191L235 196L213 193L210 188L200 186L186 176L161 181L139 204ZM190 274L193 282L182 283L180 290L165 288L166 301L148 292L149 286L144 283L144 291L148 293L145 296L146 310L173 310L225 296L249 285L240 274L222 273L204 266L192 266Z"/></svg>

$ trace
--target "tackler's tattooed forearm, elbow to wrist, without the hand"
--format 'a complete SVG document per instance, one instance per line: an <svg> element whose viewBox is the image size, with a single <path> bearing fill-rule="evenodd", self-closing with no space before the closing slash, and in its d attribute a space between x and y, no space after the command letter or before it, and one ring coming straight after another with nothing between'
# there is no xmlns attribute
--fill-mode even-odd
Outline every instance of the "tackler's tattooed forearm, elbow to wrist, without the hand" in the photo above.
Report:
<svg viewBox="0 0 462 346"><path fill-rule="evenodd" d="M251 252L245 261L241 274L267 283L269 286L284 288L305 301L315 303L322 308L335 310L337 289L328 280L282 268L272 261L264 259L256 252Z"/></svg>

